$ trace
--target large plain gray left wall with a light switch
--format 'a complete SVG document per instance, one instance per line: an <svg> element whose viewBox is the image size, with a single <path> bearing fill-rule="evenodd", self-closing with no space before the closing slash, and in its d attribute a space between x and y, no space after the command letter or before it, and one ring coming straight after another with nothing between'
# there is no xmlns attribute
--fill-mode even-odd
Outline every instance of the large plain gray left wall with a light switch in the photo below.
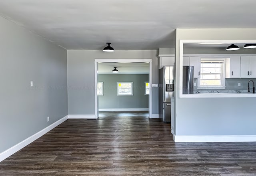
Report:
<svg viewBox="0 0 256 176"><path fill-rule="evenodd" d="M66 50L2 17L0 26L1 153L65 117L68 104Z"/></svg>

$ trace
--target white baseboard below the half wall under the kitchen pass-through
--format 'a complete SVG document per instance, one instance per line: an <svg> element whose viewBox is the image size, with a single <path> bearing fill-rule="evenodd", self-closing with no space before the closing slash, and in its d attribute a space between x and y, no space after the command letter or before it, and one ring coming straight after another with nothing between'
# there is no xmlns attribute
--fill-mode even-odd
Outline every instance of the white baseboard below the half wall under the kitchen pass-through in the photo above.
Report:
<svg viewBox="0 0 256 176"><path fill-rule="evenodd" d="M173 136L175 142L256 142L256 135Z"/></svg>

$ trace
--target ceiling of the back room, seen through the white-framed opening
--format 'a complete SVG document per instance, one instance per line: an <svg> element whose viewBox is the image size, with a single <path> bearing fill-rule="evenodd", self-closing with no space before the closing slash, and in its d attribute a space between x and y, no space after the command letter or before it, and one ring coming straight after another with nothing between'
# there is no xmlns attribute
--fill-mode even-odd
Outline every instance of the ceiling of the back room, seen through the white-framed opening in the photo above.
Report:
<svg viewBox="0 0 256 176"><path fill-rule="evenodd" d="M149 63L99 63L99 74L149 74ZM112 73L116 67L118 73Z"/></svg>

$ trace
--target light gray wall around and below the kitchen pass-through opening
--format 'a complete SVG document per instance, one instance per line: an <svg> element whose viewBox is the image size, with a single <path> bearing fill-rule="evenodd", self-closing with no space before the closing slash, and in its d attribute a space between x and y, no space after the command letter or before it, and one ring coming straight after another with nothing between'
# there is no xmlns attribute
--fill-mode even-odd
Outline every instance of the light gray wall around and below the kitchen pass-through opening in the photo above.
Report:
<svg viewBox="0 0 256 176"><path fill-rule="evenodd" d="M256 29L177 29L176 77L180 40L250 40ZM179 87L179 80L176 79ZM176 89L178 90L178 89ZM256 135L256 98L175 98L176 135Z"/></svg>

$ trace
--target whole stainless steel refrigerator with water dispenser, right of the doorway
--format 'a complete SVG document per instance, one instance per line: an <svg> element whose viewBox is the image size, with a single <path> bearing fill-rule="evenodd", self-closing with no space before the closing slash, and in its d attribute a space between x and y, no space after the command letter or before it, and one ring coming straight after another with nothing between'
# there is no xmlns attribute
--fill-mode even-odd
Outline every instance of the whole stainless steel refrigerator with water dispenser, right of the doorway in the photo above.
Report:
<svg viewBox="0 0 256 176"><path fill-rule="evenodd" d="M171 121L171 97L174 97L175 67L159 69L159 118L164 123Z"/></svg>

